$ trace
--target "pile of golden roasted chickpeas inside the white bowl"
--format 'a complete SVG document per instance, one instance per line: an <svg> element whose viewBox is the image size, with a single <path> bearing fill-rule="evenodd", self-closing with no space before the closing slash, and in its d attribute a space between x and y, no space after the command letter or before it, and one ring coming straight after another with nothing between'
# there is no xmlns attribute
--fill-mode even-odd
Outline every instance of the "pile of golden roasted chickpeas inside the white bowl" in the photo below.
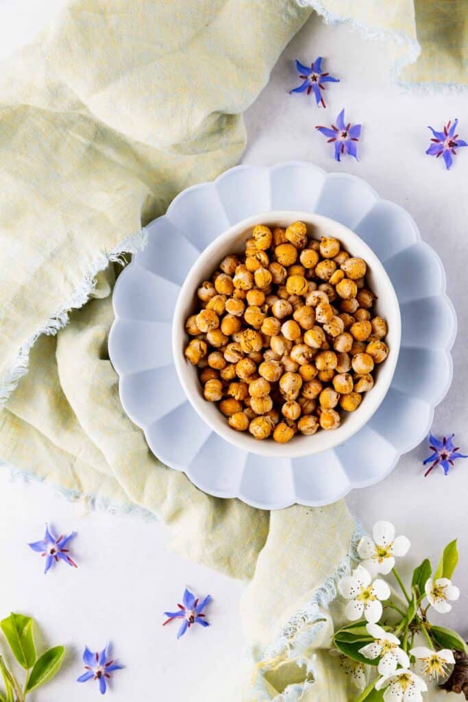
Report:
<svg viewBox="0 0 468 702"><path fill-rule="evenodd" d="M197 291L185 357L203 396L229 426L285 444L340 425L388 356L387 324L373 314L366 261L303 222L254 227Z"/></svg>

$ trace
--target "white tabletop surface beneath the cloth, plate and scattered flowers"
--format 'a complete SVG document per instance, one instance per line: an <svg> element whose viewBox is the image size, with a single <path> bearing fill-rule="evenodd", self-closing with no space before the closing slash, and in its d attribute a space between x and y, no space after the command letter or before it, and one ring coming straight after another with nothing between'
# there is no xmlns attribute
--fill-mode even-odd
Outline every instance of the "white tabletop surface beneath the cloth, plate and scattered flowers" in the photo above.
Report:
<svg viewBox="0 0 468 702"><path fill-rule="evenodd" d="M0 0L0 59L29 41L61 2ZM293 59L307 62L316 55L327 57L326 69L342 81L328 89L327 110L317 110L305 95L288 95L288 88L297 85ZM468 139L468 100L466 93L403 93L392 85L390 68L385 46L367 43L347 27L331 29L312 19L286 48L269 84L246 114L249 142L243 161L273 164L299 158L328 171L356 173L413 215L422 237L446 266L460 327L453 350L453 386L436 409L434 432L455 432L468 452L468 149L460 150L450 172L441 161L424 156L427 124L440 128L458 117L460 133ZM316 124L335 119L342 107L350 120L363 124L359 163L345 159L335 164L330 145L314 130ZM458 461L449 477L434 472L424 479L421 461L426 455L426 447L419 446L401 459L385 482L355 491L347 503L366 527L377 518L391 519L410 536L410 564L424 555L435 560L443 544L459 536L462 563L456 579L467 592L468 461ZM116 702L220 699L216 691L236 670L243 645L237 609L240 583L174 555L166 548L164 527L156 522L104 512L82 515L44 485L10 482L6 472L0 474L0 482L0 616L11 610L31 612L43 624L48 643L69 647L64 672L36 696L38 701L95 699L98 691L92 682L74 683L81 674L79 649L86 642L100 647L106 639L112 639L115 654L126 665L112 686ZM46 520L62 531L79 532L73 543L77 571L59 564L42 575L41 559L25 543L41 538ZM215 597L209 609L213 625L177 642L176 625L161 628L161 610L173 607L186 583L201 595L209 591ZM465 637L466 611L464 595L447 620Z"/></svg>

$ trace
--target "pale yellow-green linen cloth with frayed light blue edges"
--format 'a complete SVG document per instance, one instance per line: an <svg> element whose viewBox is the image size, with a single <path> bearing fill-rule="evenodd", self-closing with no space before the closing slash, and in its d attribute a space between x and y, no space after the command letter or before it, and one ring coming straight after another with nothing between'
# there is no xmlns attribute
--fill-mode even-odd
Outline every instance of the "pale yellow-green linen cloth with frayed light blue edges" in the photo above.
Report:
<svg viewBox="0 0 468 702"><path fill-rule="evenodd" d="M148 510L178 552L250 580L255 675L233 699L256 702L352 698L327 645L354 519L342 502L269 515L211 498L149 453L107 356L109 260L239 161L241 114L312 8L388 39L401 65L421 45L405 80L466 79L463 0L70 0L0 74L0 456L70 498Z"/></svg>

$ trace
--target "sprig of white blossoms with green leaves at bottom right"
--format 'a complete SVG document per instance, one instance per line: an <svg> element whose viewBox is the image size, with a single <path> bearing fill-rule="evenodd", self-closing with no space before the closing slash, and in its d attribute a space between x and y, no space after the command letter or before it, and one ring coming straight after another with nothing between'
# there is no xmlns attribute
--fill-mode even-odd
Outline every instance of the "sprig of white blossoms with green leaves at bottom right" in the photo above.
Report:
<svg viewBox="0 0 468 702"><path fill-rule="evenodd" d="M455 664L453 649L467 651L456 632L433 625L428 616L430 609L450 611L450 602L460 597L450 580L458 559L456 541L445 548L434 574L425 559L407 589L395 559L409 548L406 536L395 536L393 524L377 522L373 538L363 536L358 545L361 563L338 583L352 623L335 633L333 655L340 656L342 669L362 690L359 702L374 698L374 690L382 690L385 702L422 702L426 680L448 676ZM394 576L406 604L392 601L392 590L379 574ZM427 645L419 645L420 640ZM366 673L375 668L377 675Z"/></svg>

